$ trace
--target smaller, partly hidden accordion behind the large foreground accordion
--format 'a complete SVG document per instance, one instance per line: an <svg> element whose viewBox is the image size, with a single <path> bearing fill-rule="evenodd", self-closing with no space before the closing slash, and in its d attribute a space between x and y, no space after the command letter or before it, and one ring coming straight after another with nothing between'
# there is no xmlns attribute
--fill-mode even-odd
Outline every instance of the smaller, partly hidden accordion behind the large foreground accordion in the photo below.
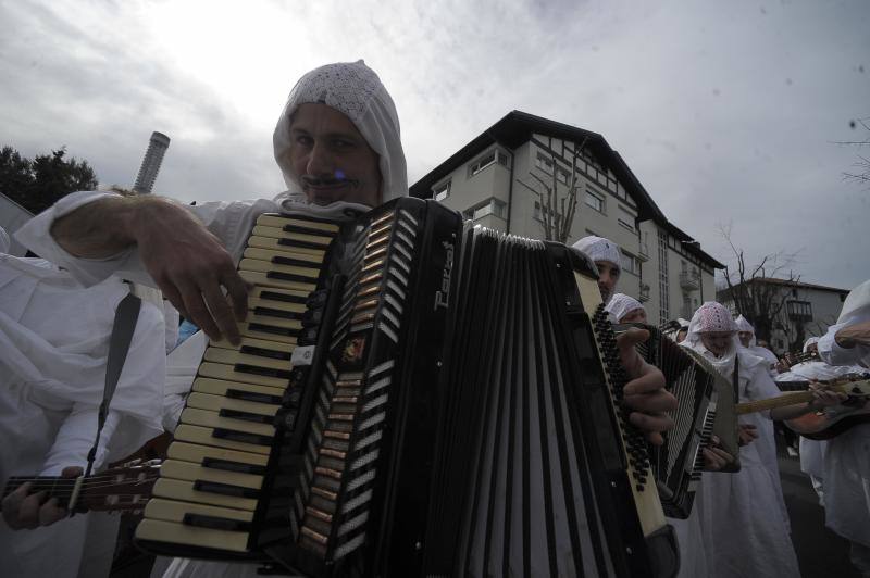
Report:
<svg viewBox="0 0 870 578"><path fill-rule="evenodd" d="M650 325L622 324L613 327L621 334L630 327L649 331L649 339L636 345L644 360L661 369L668 390L678 400L669 413L673 429L662 436L662 445L650 445L652 472L659 487L664 513L687 518L704 469L701 450L719 438L719 447L734 456L723 472L739 469L739 445L734 393L731 384L704 356L679 345Z"/></svg>

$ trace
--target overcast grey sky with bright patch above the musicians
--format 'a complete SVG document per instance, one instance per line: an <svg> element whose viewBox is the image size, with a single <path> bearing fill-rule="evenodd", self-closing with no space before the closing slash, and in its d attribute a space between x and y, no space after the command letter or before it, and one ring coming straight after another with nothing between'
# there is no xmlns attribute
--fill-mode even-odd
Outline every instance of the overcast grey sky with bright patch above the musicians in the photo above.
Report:
<svg viewBox="0 0 870 578"><path fill-rule="evenodd" d="M414 183L511 110L604 135L667 217L724 263L799 252L803 279L870 277L870 2L0 0L0 146L66 146L156 191L283 188L272 130L308 70L364 59L393 95Z"/></svg>

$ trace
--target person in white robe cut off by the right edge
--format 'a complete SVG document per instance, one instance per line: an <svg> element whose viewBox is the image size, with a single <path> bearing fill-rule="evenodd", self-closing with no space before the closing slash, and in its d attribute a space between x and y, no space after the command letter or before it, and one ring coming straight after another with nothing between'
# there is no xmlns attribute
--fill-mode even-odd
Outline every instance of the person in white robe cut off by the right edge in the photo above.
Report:
<svg viewBox="0 0 870 578"><path fill-rule="evenodd" d="M832 365L870 367L870 280L849 292L818 348ZM825 525L852 542L853 565L870 576L870 424L829 440L823 472Z"/></svg>

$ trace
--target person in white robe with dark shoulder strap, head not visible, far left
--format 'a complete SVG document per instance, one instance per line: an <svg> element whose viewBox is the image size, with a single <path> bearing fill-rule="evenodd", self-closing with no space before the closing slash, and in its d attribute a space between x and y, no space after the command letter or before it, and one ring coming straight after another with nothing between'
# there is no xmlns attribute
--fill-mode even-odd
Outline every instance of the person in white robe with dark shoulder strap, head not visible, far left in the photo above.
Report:
<svg viewBox="0 0 870 578"><path fill-rule="evenodd" d="M85 467L97 435L109 337L128 286L110 277L83 287L38 259L0 254L0 482L11 476L61 476ZM96 454L95 469L121 460L161 431L165 374L162 314L144 304ZM108 576L116 517L64 512L36 498L3 501L3 575ZM24 511L22 511L22 507ZM84 551L85 541L95 539Z"/></svg>

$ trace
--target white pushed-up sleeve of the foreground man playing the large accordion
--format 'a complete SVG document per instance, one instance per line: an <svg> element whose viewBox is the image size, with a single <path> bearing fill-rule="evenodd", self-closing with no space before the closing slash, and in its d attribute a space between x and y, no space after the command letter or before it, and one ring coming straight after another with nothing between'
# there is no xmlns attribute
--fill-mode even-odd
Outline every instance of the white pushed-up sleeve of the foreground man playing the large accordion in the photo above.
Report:
<svg viewBox="0 0 870 578"><path fill-rule="evenodd" d="M51 236L51 225L55 218L109 197L116 194L100 191L67 194L32 218L15 233L15 238L34 253L67 269L85 286L96 285L111 275L117 275L123 279L156 287L151 276L145 271L136 247L105 259L82 259L67 253ZM277 212L278 205L274 201L259 199L187 205L187 210L221 239L234 261L238 262L257 217L261 213Z"/></svg>

